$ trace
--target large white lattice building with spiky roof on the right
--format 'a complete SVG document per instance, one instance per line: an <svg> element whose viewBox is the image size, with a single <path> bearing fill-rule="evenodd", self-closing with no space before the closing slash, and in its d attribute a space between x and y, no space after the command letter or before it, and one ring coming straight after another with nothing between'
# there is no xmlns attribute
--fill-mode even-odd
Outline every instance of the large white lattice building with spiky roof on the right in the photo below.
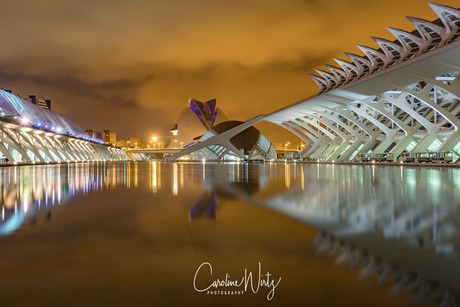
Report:
<svg viewBox="0 0 460 307"><path fill-rule="evenodd" d="M358 46L340 67L310 75L317 95L268 115L307 146L302 156L348 161L362 153L451 151L460 157L460 10L430 4L432 22L408 17L412 32Z"/></svg>

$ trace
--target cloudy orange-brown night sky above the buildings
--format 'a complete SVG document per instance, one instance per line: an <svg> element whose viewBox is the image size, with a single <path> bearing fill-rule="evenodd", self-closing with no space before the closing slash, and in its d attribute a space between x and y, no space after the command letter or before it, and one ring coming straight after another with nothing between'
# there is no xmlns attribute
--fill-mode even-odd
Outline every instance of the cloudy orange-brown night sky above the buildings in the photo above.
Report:
<svg viewBox="0 0 460 307"><path fill-rule="evenodd" d="M166 136L189 98L247 120L315 94L307 73L412 30L406 15L437 18L424 0L4 1L0 88L84 129Z"/></svg>

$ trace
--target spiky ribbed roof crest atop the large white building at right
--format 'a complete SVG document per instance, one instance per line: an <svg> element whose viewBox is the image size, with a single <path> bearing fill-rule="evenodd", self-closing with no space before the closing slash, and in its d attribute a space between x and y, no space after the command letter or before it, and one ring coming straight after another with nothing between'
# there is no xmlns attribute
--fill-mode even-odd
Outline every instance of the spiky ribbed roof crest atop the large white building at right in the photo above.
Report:
<svg viewBox="0 0 460 307"><path fill-rule="evenodd" d="M316 70L319 76L309 74L319 86L318 94L340 88L457 40L460 37L459 10L439 4L429 5L439 16L438 19L427 21L407 17L415 27L412 32L387 28L395 36L394 41L372 37L379 49L358 45L364 56L345 53L350 61L334 59L340 68L326 65L330 72Z"/></svg>

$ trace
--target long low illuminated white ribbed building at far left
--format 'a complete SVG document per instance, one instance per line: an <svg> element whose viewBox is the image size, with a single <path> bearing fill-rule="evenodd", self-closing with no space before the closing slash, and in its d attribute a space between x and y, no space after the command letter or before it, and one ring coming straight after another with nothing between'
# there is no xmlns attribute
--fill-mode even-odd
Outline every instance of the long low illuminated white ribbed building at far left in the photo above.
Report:
<svg viewBox="0 0 460 307"><path fill-rule="evenodd" d="M0 155L9 163L128 158L85 135L75 122L1 90Z"/></svg>

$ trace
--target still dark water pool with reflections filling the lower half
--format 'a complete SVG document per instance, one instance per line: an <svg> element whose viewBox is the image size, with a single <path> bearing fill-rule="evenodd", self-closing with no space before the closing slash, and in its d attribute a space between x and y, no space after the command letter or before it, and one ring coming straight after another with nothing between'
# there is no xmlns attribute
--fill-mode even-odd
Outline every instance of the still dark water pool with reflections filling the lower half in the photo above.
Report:
<svg viewBox="0 0 460 307"><path fill-rule="evenodd" d="M460 285L459 169L99 162L0 182L2 305L435 306Z"/></svg>

